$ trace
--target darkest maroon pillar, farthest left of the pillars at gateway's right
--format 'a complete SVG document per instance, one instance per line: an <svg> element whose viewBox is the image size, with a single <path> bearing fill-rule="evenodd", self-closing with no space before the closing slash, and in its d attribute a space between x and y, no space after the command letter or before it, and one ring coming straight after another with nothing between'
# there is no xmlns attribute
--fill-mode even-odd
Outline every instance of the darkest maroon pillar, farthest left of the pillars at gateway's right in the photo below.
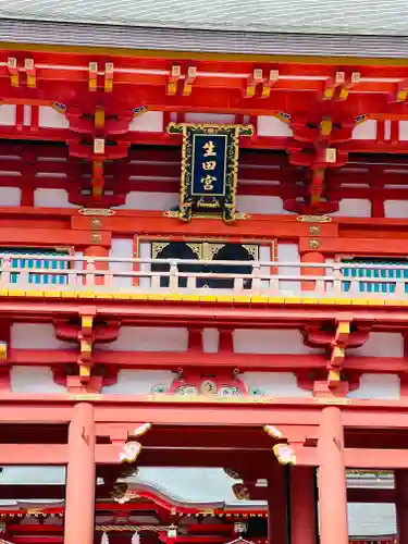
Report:
<svg viewBox="0 0 408 544"><path fill-rule="evenodd" d="M269 480L268 493L268 544L286 544L286 487L281 465L274 467Z"/></svg>

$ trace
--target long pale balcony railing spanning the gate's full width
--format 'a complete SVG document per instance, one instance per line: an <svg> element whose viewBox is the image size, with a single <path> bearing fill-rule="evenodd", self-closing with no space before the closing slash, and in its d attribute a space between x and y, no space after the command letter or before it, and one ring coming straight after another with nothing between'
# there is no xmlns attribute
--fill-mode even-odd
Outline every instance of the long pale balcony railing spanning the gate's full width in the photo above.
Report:
<svg viewBox="0 0 408 544"><path fill-rule="evenodd" d="M287 297L301 293L302 297L314 298L408 298L408 267L404 264L197 261L21 254L0 254L0 287L3 289ZM158 265L166 270L154 270ZM218 272L213 271L214 267ZM244 267L251 272L236 273L237 269Z"/></svg>

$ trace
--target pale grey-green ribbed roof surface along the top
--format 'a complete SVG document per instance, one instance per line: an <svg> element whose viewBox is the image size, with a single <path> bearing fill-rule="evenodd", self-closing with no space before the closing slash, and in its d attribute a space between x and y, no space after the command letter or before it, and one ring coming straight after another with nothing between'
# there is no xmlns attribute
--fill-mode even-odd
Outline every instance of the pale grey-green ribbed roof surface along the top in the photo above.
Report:
<svg viewBox="0 0 408 544"><path fill-rule="evenodd" d="M0 16L237 32L408 36L404 0L0 0Z"/></svg>

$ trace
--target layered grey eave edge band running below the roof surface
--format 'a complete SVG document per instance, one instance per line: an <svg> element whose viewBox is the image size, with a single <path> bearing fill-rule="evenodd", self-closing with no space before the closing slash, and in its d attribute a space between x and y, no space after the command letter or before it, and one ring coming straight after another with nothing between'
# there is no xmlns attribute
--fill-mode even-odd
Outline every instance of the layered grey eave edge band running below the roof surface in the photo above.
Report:
<svg viewBox="0 0 408 544"><path fill-rule="evenodd" d="M407 61L408 37L191 30L0 18L2 42L248 55ZM408 63L408 61L407 61Z"/></svg>

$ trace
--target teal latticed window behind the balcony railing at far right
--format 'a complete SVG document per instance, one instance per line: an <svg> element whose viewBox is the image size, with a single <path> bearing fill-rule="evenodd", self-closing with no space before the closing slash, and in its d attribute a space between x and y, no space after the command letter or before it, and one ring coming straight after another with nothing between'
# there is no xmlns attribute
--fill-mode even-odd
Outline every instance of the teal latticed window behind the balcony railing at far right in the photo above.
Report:
<svg viewBox="0 0 408 544"><path fill-rule="evenodd" d="M395 280L406 280L405 292L408 293L408 260L407 259L393 259L393 260L384 260L384 259L373 259L373 258L356 258L342 261L345 264L381 264L381 265L399 265L404 267L404 269L395 270L392 268L384 269L369 269L369 268L343 268L342 272L344 277L349 277L353 280L358 280L358 288L360 293L385 293L392 294L395 293L396 284ZM368 279L381 279L381 280L390 280L383 282L367 282L364 280ZM350 289L351 282L343 283L343 290L348 292Z"/></svg>

